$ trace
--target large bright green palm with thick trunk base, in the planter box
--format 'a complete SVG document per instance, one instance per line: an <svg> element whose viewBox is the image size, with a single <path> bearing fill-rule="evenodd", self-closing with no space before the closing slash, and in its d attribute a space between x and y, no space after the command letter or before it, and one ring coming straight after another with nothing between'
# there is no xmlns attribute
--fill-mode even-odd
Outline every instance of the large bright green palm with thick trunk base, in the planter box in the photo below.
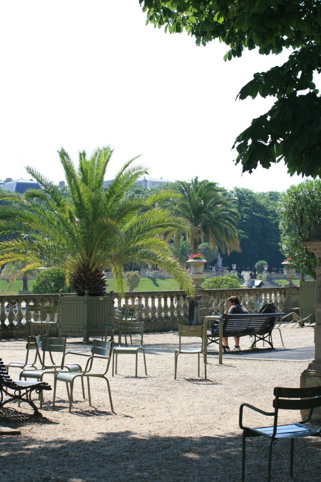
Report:
<svg viewBox="0 0 321 482"><path fill-rule="evenodd" d="M13 201L0 206L0 264L21 262L23 271L40 266L61 266L67 283L78 295L105 292L104 270L110 268L123 293L123 265L159 265L172 273L189 293L191 278L171 255L163 235L171 230L189 230L189 223L171 214L159 203L173 191L156 192L145 199L126 198L129 187L147 171L132 167L129 160L113 182L103 189L110 147L97 149L90 159L79 153L75 169L64 149L59 151L69 195L64 196L32 167L26 170L42 189L24 194L4 191L0 199Z"/></svg>

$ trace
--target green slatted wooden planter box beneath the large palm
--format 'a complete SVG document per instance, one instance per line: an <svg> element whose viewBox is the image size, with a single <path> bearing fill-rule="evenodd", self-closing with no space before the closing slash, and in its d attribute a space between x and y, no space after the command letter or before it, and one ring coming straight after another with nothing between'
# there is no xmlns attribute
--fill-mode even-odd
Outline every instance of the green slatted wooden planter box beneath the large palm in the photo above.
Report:
<svg viewBox="0 0 321 482"><path fill-rule="evenodd" d="M115 315L114 298L111 296L59 297L59 336L101 337L105 323L113 323Z"/></svg>

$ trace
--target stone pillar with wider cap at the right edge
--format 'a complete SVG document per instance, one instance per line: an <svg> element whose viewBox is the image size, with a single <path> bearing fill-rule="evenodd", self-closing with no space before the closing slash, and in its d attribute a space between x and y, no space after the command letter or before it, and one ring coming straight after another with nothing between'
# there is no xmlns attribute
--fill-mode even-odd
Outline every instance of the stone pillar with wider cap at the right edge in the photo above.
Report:
<svg viewBox="0 0 321 482"><path fill-rule="evenodd" d="M308 365L308 368L301 373L302 388L317 387L321 385L321 224L316 231L307 239L302 241L303 246L310 248L317 260L316 285L314 295L315 308L315 328L314 328L314 360ZM302 412L302 416L306 416L307 412ZM321 408L313 411L312 419L321 419Z"/></svg>

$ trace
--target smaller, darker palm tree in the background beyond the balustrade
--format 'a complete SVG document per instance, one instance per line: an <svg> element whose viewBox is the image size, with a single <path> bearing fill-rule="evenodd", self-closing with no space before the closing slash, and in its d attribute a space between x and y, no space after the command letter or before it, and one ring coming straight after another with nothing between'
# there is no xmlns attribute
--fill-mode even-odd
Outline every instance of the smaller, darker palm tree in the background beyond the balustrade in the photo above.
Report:
<svg viewBox="0 0 321 482"><path fill-rule="evenodd" d="M191 182L178 181L178 191L181 197L171 200L168 208L193 226L192 231L183 231L193 253L198 253L199 243L204 240L215 250L219 246L222 253L240 251L236 230L239 214L217 183L198 181L195 177Z"/></svg>

